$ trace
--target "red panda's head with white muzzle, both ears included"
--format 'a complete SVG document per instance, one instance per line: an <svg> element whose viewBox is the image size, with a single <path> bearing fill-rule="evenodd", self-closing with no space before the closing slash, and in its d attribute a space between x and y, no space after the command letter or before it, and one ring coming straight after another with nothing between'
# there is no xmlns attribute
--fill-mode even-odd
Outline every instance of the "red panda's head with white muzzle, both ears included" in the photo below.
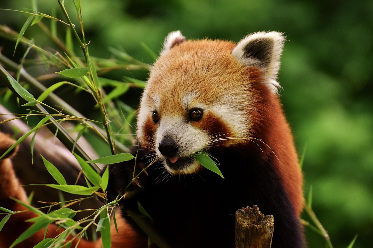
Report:
<svg viewBox="0 0 373 248"><path fill-rule="evenodd" d="M170 33L154 64L138 114L137 138L172 174L201 169L201 150L248 142L255 125L254 83L276 94L284 37L278 32L228 41L186 41Z"/></svg>

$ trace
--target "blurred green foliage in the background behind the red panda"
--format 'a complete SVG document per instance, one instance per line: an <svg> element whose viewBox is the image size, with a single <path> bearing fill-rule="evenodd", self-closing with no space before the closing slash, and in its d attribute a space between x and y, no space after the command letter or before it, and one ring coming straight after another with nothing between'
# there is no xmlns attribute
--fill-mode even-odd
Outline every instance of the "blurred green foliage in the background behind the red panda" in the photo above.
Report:
<svg viewBox="0 0 373 248"><path fill-rule="evenodd" d="M37 4L49 15L58 10L56 1ZM32 1L3 0L0 7L32 8ZM334 247L347 247L355 234L355 248L371 246L373 1L82 0L82 11L91 55L109 58L109 47L114 47L145 63L152 58L140 43L157 52L173 30L187 38L235 42L251 32L284 32L288 41L279 75L281 98L298 151L307 145L305 195L312 185L314 212ZM56 15L63 19L61 13ZM20 13L0 12L0 23L16 31L26 19ZM65 30L60 31L63 38ZM25 36L53 48L43 44L38 32L31 27ZM0 38L2 53L12 57L13 43ZM25 50L18 47L13 59L19 61ZM144 71L123 70L110 77L123 75L142 80L147 76ZM125 101L136 105L139 93L132 93ZM306 229L306 236L311 248L325 244L312 230Z"/></svg>

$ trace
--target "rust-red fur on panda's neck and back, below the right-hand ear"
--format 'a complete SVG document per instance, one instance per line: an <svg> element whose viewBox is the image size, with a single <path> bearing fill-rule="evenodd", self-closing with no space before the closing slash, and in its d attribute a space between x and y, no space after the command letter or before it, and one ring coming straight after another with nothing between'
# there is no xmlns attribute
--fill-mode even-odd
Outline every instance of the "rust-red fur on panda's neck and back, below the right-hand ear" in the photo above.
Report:
<svg viewBox="0 0 373 248"><path fill-rule="evenodd" d="M277 159L274 161L276 168L282 178L286 192L294 204L295 213L300 216L303 209L303 178L299 168L297 152L294 148L293 137L289 125L283 114L278 95L269 92L269 89L256 81L252 84L256 102L256 111L252 114L253 137L260 137L262 142L256 142L261 150L262 156L274 153ZM266 96L263 98L261 96ZM252 143L253 149L257 149ZM272 149L272 150L271 150ZM261 152L261 151L260 151Z"/></svg>

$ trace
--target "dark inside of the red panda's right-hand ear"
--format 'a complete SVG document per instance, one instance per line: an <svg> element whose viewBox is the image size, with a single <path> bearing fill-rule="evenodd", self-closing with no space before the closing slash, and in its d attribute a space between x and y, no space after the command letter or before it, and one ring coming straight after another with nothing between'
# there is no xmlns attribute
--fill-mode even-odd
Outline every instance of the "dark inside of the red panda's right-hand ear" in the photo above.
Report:
<svg viewBox="0 0 373 248"><path fill-rule="evenodd" d="M255 39L244 47L244 51L245 58L254 58L260 62L261 66L268 66L273 51L273 40L270 38Z"/></svg>

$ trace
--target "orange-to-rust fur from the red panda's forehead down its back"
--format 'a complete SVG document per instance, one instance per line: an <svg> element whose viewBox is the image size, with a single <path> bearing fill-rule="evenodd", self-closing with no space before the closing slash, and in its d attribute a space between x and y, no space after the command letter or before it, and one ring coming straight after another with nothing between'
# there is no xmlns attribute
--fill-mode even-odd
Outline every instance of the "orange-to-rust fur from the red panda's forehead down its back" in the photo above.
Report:
<svg viewBox="0 0 373 248"><path fill-rule="evenodd" d="M157 110L161 115L184 115L185 109L180 99L192 89L199 90L196 101L206 104L207 107L225 97L238 96L239 104L236 107L246 113L248 120L242 129L247 128L247 137L261 139L263 142L247 139L234 139L229 142L236 142L236 145L247 144L254 149L260 146L263 150L261 156L264 157L272 152L276 155L278 160L274 162L275 166L285 191L294 204L295 213L299 216L303 209L303 179L291 130L285 120L279 97L264 85L261 70L248 68L232 57L231 52L235 45L233 42L211 40L185 41L178 44L155 64L148 80L149 89L160 94L161 102ZM198 68L200 71L190 68ZM148 93L144 97L150 102L153 95ZM219 117L212 117L209 113L207 117L206 122L211 120L212 123L219 123ZM209 126L202 119L192 125L204 128L209 133L231 133L230 136L237 136L232 133L231 123ZM145 125L143 131L148 128L154 130L155 127Z"/></svg>

